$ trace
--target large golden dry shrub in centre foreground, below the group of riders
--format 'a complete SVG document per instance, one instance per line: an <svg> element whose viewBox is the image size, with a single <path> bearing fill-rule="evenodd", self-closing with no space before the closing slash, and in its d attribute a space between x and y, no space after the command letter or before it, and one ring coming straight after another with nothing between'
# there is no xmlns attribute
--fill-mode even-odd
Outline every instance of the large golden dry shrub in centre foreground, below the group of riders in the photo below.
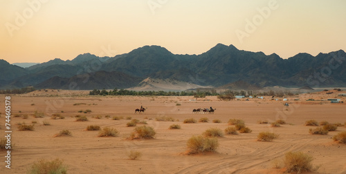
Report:
<svg viewBox="0 0 346 174"><path fill-rule="evenodd" d="M214 152L219 147L217 138L208 138L199 136L192 136L188 140L188 154Z"/></svg>

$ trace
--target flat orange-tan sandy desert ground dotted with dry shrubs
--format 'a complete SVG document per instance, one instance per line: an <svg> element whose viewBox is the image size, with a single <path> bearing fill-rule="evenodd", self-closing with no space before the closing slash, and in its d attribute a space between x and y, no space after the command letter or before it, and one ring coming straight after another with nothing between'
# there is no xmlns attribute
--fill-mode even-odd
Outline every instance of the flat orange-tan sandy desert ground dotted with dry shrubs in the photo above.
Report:
<svg viewBox="0 0 346 174"><path fill-rule="evenodd" d="M331 137L345 131L338 127L328 135L311 135L304 122L309 119L345 123L346 103L331 104L328 101L306 101L336 98L338 93L301 94L288 98L289 107L279 101L250 98L249 101L219 101L216 96L207 96L193 100L192 96L149 97L149 96L80 96L85 92L35 92L12 95L12 143L15 148L11 155L11 169L0 165L0 173L26 173L28 168L39 159L60 158L68 166L68 173L282 173L273 168L277 160L289 151L302 151L313 156L313 165L320 166L318 173L346 173L346 145L332 141ZM61 95L60 95L61 94ZM5 129L5 96L1 98L0 135ZM300 98L300 101L294 101ZM340 97L339 97L340 98ZM341 98L343 101L345 97ZM86 105L73 105L86 103ZM177 105L177 103L181 105ZM144 114L134 114L140 105L147 107ZM216 108L215 114L192 114L198 107ZM33 112L45 113L44 118L34 118ZM75 121L78 110L91 110L84 114L89 121ZM20 111L20 113L19 113ZM62 112L63 111L63 112ZM51 119L51 115L60 113L65 119ZM19 117L14 117L19 114ZM23 115L28 114L28 119ZM106 119L104 116L131 116L132 119L146 120L147 125L156 131L155 139L127 140L134 127L127 127L129 120ZM102 116L102 119L95 119ZM155 121L158 116L168 116L176 121ZM183 123L184 119L208 117L209 123ZM222 123L212 123L220 119ZM192 135L202 134L208 128L228 127L229 119L243 119L253 130L248 134L225 135L218 138L220 146L217 153L185 155L186 143ZM273 122L284 119L286 125L271 128L269 124L257 121ZM178 120L178 121L177 121ZM35 123L34 131L18 131L16 123ZM51 125L43 125L48 121ZM181 130L169 130L172 124L181 125ZM87 125L100 125L120 131L118 137L98 137L98 131L86 131ZM137 127L140 124L137 125ZM72 137L53 137L60 130L71 130ZM257 141L259 132L275 132L278 139L271 142ZM138 150L143 156L131 160L127 156L130 150ZM4 161L5 151L0 151Z"/></svg>

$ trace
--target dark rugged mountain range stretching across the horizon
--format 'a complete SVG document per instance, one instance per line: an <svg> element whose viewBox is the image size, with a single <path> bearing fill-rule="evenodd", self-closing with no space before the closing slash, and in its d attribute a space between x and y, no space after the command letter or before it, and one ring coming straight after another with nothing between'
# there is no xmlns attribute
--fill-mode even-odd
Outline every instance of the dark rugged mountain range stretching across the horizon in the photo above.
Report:
<svg viewBox="0 0 346 174"><path fill-rule="evenodd" d="M143 46L113 58L84 53L73 60L55 59L28 68L0 60L0 88L153 89L152 81L229 89L237 84L251 89L275 85L343 87L345 58L343 50L282 59L275 53L241 51L224 44L201 55L175 55L161 46Z"/></svg>

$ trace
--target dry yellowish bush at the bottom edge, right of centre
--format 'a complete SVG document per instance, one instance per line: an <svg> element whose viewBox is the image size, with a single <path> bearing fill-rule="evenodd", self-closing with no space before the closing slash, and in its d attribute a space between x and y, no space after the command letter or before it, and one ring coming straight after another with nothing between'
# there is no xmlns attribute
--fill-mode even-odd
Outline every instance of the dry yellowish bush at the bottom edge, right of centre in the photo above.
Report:
<svg viewBox="0 0 346 174"><path fill-rule="evenodd" d="M289 152L284 156L284 168L286 168L286 172L313 171L312 160L311 155L302 152Z"/></svg>

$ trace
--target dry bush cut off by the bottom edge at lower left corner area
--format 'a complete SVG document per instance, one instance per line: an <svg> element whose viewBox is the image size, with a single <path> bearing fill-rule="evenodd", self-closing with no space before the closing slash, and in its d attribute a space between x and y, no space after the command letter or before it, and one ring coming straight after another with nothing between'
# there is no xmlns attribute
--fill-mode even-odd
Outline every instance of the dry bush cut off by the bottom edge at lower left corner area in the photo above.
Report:
<svg viewBox="0 0 346 174"><path fill-rule="evenodd" d="M28 173L66 174L67 167L60 159L54 159L51 162L42 159L39 162L35 162L33 166L31 166L31 168L28 170Z"/></svg>

